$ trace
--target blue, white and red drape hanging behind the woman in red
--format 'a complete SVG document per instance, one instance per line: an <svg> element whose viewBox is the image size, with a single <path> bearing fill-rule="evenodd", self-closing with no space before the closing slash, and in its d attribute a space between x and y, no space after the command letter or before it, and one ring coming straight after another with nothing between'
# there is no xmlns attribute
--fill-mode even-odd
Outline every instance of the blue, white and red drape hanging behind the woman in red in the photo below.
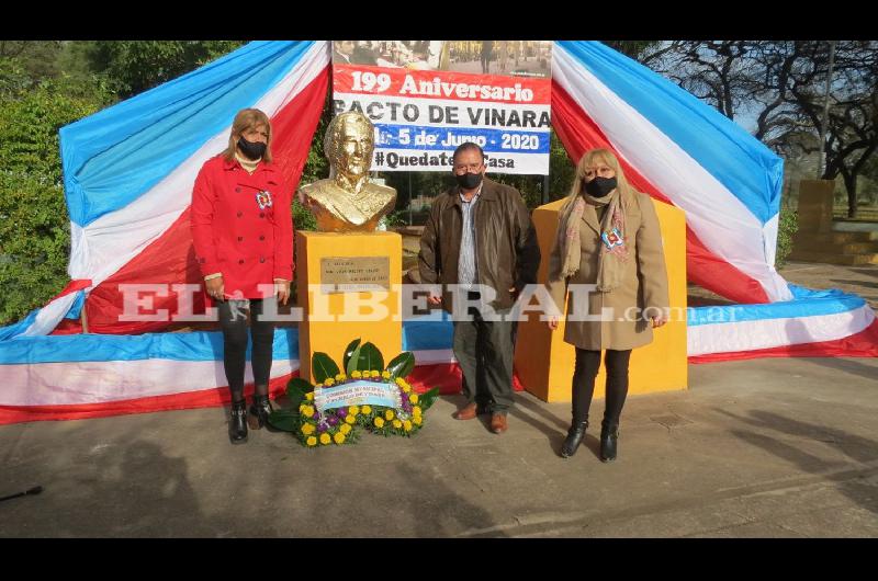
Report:
<svg viewBox="0 0 878 581"><path fill-rule="evenodd" d="M275 162L289 183L299 183L329 61L327 42L255 42L61 128L72 283L2 338L80 332L69 320L58 324L83 294L90 332L167 328L167 319L120 320L120 285L201 284L189 228L192 186L204 161L226 148L239 110L269 115ZM196 311L200 301L198 295ZM178 293L156 295L154 307L173 316Z"/></svg>

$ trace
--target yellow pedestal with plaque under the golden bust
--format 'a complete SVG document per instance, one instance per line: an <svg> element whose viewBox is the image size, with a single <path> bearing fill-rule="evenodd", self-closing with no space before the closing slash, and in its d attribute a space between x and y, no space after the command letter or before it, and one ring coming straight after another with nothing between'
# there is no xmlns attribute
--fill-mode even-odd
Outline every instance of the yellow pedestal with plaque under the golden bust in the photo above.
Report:
<svg viewBox="0 0 878 581"><path fill-rule="evenodd" d="M299 356L301 376L312 379L311 358L315 352L329 355L339 367L348 344L360 338L371 341L381 350L386 364L399 354L403 346L401 320L401 287L403 282L403 238L396 232L336 233L296 232L296 293L299 306L304 309L305 320L299 326ZM370 292L346 292L324 294L308 287L325 284L322 281L322 259L374 258L390 259L390 283L397 285L375 306L386 310L380 320L354 319L351 306L356 301L375 298ZM346 308L347 307L347 308ZM372 307L359 309L363 315L373 312ZM333 320L320 320L331 318ZM396 319L396 320L394 320Z"/></svg>

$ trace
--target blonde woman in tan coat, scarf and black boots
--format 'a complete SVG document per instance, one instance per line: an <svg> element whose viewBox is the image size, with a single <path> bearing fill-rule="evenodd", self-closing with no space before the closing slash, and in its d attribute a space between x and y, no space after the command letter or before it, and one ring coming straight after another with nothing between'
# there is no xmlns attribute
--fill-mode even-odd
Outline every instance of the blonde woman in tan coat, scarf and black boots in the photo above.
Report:
<svg viewBox="0 0 878 581"><path fill-rule="evenodd" d="M652 201L624 179L611 151L587 151L576 167L549 259L549 292L566 310L564 341L576 348L573 423L561 447L570 457L588 428L588 409L606 350L606 406L600 459L617 454L619 415L628 395L631 350L652 342L667 321L667 273L658 218ZM560 309L559 309L560 310ZM549 328L558 328L551 317Z"/></svg>

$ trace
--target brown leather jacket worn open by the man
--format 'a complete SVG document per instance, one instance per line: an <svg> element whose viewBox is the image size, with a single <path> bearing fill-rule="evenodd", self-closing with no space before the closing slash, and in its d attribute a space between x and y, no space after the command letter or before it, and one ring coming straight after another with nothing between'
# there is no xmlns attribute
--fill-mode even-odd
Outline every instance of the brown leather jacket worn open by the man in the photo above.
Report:
<svg viewBox="0 0 878 581"><path fill-rule="evenodd" d="M515 295L537 283L540 247L521 194L515 187L484 179L475 212L479 284L493 287L495 309L515 304ZM457 284L463 214L460 189L440 194L420 238L418 270L424 284ZM516 293L509 293L515 287ZM443 287L442 307L451 312L451 294Z"/></svg>

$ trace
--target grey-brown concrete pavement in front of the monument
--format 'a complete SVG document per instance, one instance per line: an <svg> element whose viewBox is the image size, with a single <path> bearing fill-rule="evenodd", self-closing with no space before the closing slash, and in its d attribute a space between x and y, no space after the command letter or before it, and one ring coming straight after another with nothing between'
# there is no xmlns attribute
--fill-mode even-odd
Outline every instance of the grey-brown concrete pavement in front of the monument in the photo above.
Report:
<svg viewBox="0 0 878 581"><path fill-rule="evenodd" d="M517 397L509 431L442 398L414 438L303 449L225 410L0 426L2 537L874 537L878 361L690 365L629 398L619 459L558 449L567 403Z"/></svg>

